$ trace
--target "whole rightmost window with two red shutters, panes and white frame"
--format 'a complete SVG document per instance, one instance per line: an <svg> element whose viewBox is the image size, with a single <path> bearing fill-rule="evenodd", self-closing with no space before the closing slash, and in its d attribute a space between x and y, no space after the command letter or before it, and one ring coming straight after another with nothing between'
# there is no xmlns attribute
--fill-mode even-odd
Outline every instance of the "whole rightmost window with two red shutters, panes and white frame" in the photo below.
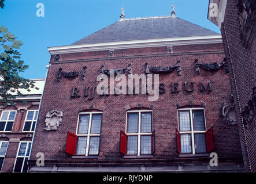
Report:
<svg viewBox="0 0 256 184"><path fill-rule="evenodd" d="M206 153L204 108L178 109L181 154Z"/></svg>

